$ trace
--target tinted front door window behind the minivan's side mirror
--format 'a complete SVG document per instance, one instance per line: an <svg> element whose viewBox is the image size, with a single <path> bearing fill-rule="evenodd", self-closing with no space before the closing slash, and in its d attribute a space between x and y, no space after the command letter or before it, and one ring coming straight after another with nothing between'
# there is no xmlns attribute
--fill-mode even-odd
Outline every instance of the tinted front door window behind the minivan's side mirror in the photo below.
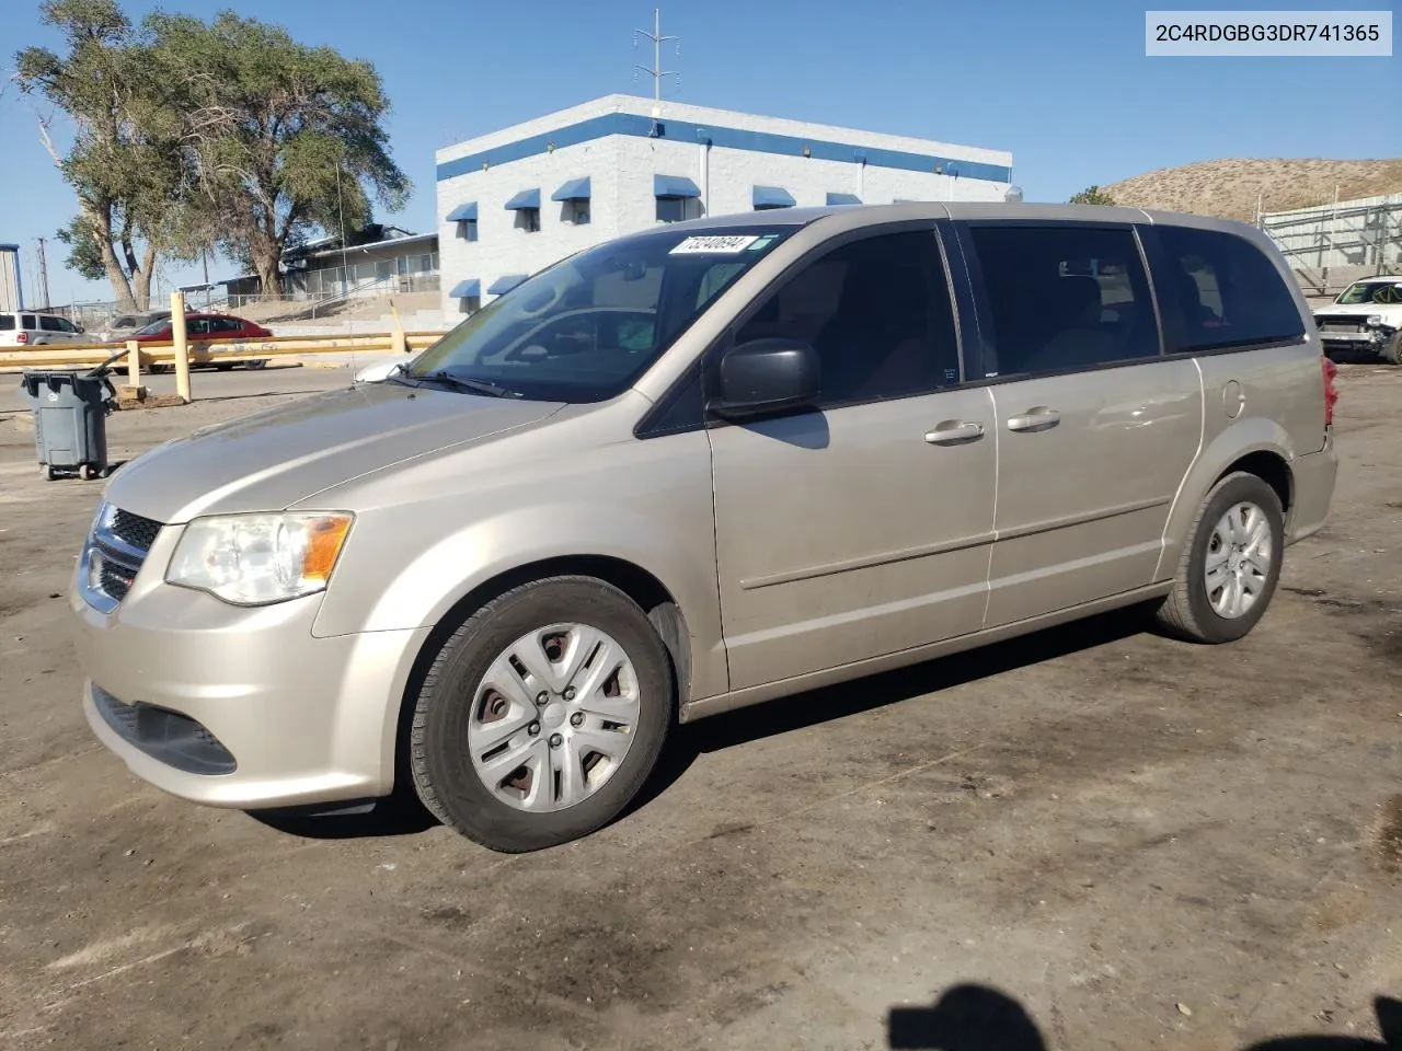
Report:
<svg viewBox="0 0 1402 1051"><path fill-rule="evenodd" d="M953 311L931 230L852 241L803 266L737 334L817 350L822 405L959 383Z"/></svg>

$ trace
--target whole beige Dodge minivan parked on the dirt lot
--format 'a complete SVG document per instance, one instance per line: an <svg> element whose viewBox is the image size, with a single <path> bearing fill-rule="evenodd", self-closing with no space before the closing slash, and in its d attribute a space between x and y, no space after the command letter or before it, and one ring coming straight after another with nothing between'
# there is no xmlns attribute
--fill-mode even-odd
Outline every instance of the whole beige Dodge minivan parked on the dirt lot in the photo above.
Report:
<svg viewBox="0 0 1402 1051"><path fill-rule="evenodd" d="M87 717L189 800L412 786L530 851L615 817L679 722L1116 607L1230 642L1329 509L1318 339L1209 219L611 241L386 383L123 467L72 593Z"/></svg>

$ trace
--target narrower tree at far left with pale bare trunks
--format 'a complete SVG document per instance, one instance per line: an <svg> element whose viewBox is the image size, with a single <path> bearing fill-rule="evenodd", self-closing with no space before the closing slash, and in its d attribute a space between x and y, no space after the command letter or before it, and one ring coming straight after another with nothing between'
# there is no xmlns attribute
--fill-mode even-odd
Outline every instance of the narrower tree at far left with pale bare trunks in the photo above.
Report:
<svg viewBox="0 0 1402 1051"><path fill-rule="evenodd" d="M45 0L39 13L63 34L64 53L25 48L15 80L74 125L60 156L39 118L45 149L79 199L60 238L84 276L107 276L122 310L144 308L178 184L175 116L151 80L146 42L114 0Z"/></svg>

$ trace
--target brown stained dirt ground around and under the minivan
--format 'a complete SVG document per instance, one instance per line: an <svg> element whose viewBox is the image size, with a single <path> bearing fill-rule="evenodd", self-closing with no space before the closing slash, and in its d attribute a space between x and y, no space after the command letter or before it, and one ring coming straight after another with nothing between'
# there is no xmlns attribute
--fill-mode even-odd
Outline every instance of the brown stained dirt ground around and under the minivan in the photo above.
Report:
<svg viewBox="0 0 1402 1051"><path fill-rule="evenodd" d="M0 406L0 1047L1381 1047L1402 370L1340 388L1332 520L1244 642L1119 614L695 723L637 813L516 858L132 778L60 597L100 485ZM121 413L115 453L268 401Z"/></svg>

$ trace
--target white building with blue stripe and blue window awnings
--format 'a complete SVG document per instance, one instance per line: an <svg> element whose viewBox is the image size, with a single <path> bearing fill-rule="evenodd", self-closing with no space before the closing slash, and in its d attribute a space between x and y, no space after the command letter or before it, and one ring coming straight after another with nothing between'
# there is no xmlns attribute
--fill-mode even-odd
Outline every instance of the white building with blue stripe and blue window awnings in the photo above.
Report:
<svg viewBox="0 0 1402 1051"><path fill-rule="evenodd" d="M765 207L1002 200L1012 154L606 95L437 153L446 317L659 221Z"/></svg>

